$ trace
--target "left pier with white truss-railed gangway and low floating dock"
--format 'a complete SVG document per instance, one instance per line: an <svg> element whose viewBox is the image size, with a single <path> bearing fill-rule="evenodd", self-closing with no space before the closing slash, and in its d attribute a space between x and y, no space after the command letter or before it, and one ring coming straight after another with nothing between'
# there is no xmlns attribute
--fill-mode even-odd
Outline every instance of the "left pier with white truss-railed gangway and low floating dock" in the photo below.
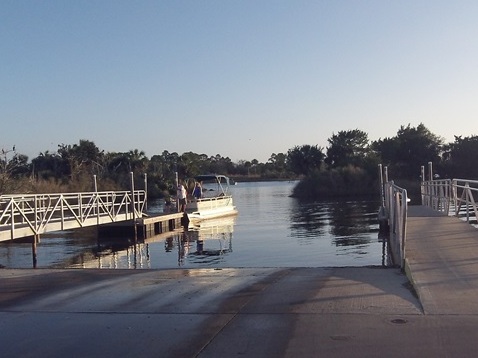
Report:
<svg viewBox="0 0 478 358"><path fill-rule="evenodd" d="M99 237L136 241L184 225L184 213L145 213L146 192L104 191L0 196L0 242L27 240L33 267L42 234L96 226Z"/></svg>

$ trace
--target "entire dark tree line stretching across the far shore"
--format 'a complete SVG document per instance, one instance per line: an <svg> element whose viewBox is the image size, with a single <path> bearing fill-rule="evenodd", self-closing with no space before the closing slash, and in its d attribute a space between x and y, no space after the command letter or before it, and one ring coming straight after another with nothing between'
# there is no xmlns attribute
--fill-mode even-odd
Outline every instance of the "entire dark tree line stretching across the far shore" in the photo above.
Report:
<svg viewBox="0 0 478 358"><path fill-rule="evenodd" d="M125 190L130 173L135 183L147 175L148 195L162 197L174 191L180 178L219 173L236 180L297 179L294 195L317 198L376 192L378 164L389 168L395 180L419 181L420 168L433 162L441 177L478 178L478 136L455 136L452 143L430 132L424 124L401 126L393 137L371 141L359 129L333 133L326 148L298 145L287 153L273 153L265 163L253 159L236 163L219 154L207 156L163 151L150 158L141 150L105 152L92 141L59 144L56 152L41 152L31 161L15 147L2 149L0 193Z"/></svg>

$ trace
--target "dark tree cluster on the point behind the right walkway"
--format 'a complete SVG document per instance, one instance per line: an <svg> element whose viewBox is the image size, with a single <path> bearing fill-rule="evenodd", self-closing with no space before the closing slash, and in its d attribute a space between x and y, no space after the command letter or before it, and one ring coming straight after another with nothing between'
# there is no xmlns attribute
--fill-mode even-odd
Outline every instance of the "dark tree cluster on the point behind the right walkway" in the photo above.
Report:
<svg viewBox="0 0 478 358"><path fill-rule="evenodd" d="M379 164L387 166L389 178L407 188L415 200L420 195L421 167L429 162L435 178L478 179L478 166L474 165L478 162L478 136L454 136L452 143L445 143L423 123L401 126L394 137L376 141L358 129L340 131L328 139L325 151L315 149L320 165L317 160L315 167L304 167L304 179L294 188L295 196L376 195Z"/></svg>

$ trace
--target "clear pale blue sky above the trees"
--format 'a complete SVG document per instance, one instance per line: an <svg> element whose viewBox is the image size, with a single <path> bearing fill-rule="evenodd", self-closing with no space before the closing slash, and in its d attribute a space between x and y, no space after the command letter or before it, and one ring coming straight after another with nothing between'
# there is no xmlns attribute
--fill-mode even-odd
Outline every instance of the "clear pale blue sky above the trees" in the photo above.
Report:
<svg viewBox="0 0 478 358"><path fill-rule="evenodd" d="M0 148L266 162L334 133L478 134L476 0L1 0Z"/></svg>

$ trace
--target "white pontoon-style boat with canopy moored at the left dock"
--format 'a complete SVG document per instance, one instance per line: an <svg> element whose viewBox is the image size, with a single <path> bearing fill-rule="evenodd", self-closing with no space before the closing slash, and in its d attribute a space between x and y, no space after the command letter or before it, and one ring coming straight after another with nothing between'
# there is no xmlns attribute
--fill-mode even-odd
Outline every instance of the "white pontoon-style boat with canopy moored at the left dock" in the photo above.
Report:
<svg viewBox="0 0 478 358"><path fill-rule="evenodd" d="M229 194L229 178L225 175L207 174L194 178L201 184L201 198L188 200L186 213L192 222L237 214L232 195Z"/></svg>

